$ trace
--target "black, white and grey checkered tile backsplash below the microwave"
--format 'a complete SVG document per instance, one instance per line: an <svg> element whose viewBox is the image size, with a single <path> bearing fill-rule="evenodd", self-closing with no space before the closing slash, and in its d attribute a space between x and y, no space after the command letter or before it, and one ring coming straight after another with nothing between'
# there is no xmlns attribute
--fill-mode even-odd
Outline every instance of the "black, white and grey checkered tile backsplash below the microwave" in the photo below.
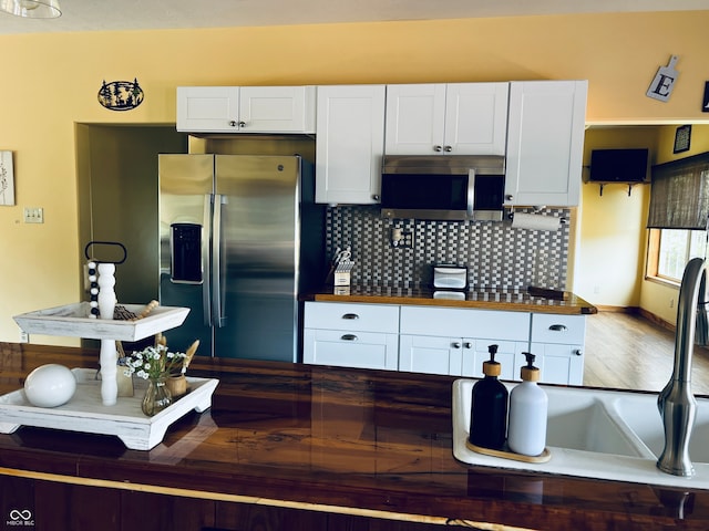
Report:
<svg viewBox="0 0 709 531"><path fill-rule="evenodd" d="M571 220L569 209L545 208L541 214ZM432 281L432 266L448 263L466 266L471 287L563 290L569 225L562 222L557 231L543 231L513 229L510 220L389 220L380 217L378 206L339 206L327 209L326 249L332 257L338 248L351 246L352 284L425 288ZM392 247L394 228L413 233L411 249Z"/></svg>

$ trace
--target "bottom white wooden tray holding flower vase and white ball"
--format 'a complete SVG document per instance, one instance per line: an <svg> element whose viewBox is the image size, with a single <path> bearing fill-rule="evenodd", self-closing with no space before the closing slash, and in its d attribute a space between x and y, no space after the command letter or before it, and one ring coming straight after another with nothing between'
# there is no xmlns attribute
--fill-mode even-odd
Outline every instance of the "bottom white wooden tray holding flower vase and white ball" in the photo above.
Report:
<svg viewBox="0 0 709 531"><path fill-rule="evenodd" d="M141 410L147 382L134 378L135 394L120 397L114 406L101 403L101 382L96 371L73 368L76 392L63 406L35 407L18 389L0 396L0 433L11 434L20 426L117 436L127 448L150 450L158 445L167 428L192 409L202 413L212 406L212 394L219 383L214 378L187 377L189 392L153 417Z"/></svg>

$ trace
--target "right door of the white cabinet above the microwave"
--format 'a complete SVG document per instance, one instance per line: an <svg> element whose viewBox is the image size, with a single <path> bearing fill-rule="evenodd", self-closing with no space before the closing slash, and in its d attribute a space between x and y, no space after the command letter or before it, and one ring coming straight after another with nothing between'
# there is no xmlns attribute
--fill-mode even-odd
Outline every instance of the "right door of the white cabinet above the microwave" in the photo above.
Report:
<svg viewBox="0 0 709 531"><path fill-rule="evenodd" d="M508 90L508 83L449 84L443 152L504 156Z"/></svg>

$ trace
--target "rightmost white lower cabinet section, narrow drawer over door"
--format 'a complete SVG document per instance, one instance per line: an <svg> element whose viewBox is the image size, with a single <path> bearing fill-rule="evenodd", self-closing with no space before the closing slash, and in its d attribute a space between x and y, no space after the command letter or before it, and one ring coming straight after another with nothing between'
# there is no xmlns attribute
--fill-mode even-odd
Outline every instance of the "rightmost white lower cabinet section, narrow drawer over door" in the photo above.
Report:
<svg viewBox="0 0 709 531"><path fill-rule="evenodd" d="M540 381L582 385L585 337L585 315L533 313L530 352L536 356Z"/></svg>

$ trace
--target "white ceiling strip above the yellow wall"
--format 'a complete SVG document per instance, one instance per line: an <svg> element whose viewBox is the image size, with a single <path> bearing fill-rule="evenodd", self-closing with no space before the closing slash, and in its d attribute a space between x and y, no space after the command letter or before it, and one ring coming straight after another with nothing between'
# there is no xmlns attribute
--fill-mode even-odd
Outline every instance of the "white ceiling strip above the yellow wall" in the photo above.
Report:
<svg viewBox="0 0 709 531"><path fill-rule="evenodd" d="M709 9L709 0L60 1L62 15L59 19L21 19L0 13L0 34Z"/></svg>

